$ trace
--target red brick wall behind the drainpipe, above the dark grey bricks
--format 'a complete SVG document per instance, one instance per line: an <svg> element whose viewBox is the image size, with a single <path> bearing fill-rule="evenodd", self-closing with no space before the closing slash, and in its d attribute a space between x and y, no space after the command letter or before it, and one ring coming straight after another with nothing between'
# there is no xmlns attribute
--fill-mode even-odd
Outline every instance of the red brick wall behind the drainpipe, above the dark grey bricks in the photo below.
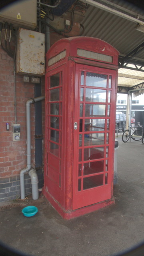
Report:
<svg viewBox="0 0 144 256"><path fill-rule="evenodd" d="M16 116L21 125L21 140L12 140L14 117L13 59L0 47L0 178L13 176L26 167L26 101L34 97L34 85L16 75ZM10 130L6 131L6 123ZM34 105L31 105L31 145L34 165Z"/></svg>

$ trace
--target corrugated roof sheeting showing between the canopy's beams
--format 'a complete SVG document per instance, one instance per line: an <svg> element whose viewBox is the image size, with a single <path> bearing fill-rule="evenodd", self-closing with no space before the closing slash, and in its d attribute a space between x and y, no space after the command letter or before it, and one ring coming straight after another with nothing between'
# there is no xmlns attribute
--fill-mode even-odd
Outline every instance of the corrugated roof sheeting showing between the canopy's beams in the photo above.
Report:
<svg viewBox="0 0 144 256"><path fill-rule="evenodd" d="M99 1L95 0L95 2ZM105 2L118 4L128 11L134 12L136 16L140 15L141 18L144 18L144 11L128 2L120 0L110 0ZM100 38L108 42L120 52L121 56L127 55L144 42L144 33L136 30L136 22L132 22L92 5L86 10L85 18L81 23L85 28L82 36ZM136 54L135 58L144 62L144 50ZM142 71L119 69L119 73L144 77ZM132 87L140 83L144 83L144 80L118 77L118 85L121 86Z"/></svg>

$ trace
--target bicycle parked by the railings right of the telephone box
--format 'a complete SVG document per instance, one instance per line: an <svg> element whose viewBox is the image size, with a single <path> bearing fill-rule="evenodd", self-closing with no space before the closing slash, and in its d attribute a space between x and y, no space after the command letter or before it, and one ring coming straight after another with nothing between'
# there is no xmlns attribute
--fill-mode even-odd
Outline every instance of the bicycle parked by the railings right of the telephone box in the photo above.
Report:
<svg viewBox="0 0 144 256"><path fill-rule="evenodd" d="M143 127L140 125L140 122L136 126L128 126L129 129L125 130L122 134L122 141L127 142L130 138L132 138L134 141L140 141L143 134ZM138 129L142 128L142 129ZM142 142L143 143L143 142Z"/></svg>

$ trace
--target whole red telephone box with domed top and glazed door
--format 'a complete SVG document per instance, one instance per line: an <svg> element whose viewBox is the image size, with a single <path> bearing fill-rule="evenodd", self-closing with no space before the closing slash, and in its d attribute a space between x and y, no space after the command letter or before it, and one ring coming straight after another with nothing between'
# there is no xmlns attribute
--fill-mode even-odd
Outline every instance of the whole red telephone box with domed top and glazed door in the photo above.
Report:
<svg viewBox="0 0 144 256"><path fill-rule="evenodd" d="M43 194L70 219L114 203L118 51L97 38L66 38L46 63Z"/></svg>

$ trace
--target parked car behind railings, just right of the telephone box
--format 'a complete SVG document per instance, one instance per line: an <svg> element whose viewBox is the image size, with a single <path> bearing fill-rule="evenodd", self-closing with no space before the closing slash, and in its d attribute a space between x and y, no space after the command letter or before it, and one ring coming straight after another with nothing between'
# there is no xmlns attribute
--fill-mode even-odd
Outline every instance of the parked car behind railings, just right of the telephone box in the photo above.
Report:
<svg viewBox="0 0 144 256"><path fill-rule="evenodd" d="M126 129L126 115L122 112L116 112L116 132Z"/></svg>

